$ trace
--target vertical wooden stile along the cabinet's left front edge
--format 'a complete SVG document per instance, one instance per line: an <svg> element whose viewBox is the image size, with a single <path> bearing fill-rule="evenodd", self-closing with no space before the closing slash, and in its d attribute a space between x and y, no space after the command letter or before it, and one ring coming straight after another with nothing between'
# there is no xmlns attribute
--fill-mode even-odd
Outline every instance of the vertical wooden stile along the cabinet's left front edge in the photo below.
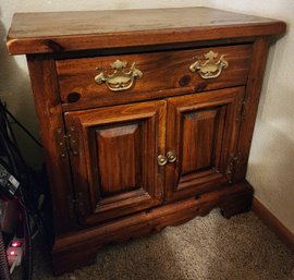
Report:
<svg viewBox="0 0 294 280"><path fill-rule="evenodd" d="M69 194L72 193L70 162L66 156L61 157L56 144L57 130L63 131L63 120L54 61L49 56L28 56L27 63L51 187L54 233L58 235L73 229L75 223L69 218L68 210Z"/></svg>

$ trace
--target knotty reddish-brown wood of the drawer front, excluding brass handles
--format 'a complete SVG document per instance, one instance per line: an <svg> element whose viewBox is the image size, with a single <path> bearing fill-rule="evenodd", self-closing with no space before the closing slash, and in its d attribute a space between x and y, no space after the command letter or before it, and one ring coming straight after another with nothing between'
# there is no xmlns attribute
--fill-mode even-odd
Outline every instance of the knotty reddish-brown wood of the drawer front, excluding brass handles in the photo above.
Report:
<svg viewBox="0 0 294 280"><path fill-rule="evenodd" d="M205 54L212 50L229 62L229 66L222 70L217 78L204 80L189 66L196 61L205 61ZM126 71L133 62L143 72L134 86L127 90L112 92L107 85L98 85L95 76L103 68L111 75L113 70L110 64L115 60L126 61ZM216 59L217 61L218 59ZM146 98L159 98L167 90L206 92L210 89L230 86L245 85L252 62L252 45L240 45L229 47L213 46L211 48L197 48L177 51L160 51L140 54L121 54L94 57L83 59L57 60L57 72L59 76L60 97L68 109L81 109L96 106L122 104L127 101L145 100ZM69 101L69 95L76 93L79 99L76 102Z"/></svg>

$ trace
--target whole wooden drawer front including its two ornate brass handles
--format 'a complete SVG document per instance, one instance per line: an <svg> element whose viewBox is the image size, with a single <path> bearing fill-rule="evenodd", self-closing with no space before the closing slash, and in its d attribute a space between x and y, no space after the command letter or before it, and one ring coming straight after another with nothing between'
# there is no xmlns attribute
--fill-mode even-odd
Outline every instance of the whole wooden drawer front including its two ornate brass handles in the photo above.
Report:
<svg viewBox="0 0 294 280"><path fill-rule="evenodd" d="M244 85L250 57L252 45L240 45L56 63L62 102L84 107Z"/></svg>

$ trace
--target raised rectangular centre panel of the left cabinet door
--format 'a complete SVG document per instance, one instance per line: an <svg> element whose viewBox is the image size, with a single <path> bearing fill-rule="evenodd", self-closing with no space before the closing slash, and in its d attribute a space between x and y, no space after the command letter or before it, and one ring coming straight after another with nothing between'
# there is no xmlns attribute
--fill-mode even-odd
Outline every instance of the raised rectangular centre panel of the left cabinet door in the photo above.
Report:
<svg viewBox="0 0 294 280"><path fill-rule="evenodd" d="M96 130L101 196L140 187L139 123ZM115 170L115 172L113 172Z"/></svg>

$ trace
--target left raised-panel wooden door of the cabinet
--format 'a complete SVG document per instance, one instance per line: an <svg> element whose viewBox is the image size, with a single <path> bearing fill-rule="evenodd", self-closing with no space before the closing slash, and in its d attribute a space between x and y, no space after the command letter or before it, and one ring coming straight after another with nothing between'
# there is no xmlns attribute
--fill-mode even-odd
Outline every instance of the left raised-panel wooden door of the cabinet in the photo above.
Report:
<svg viewBox="0 0 294 280"><path fill-rule="evenodd" d="M65 113L77 214L95 223L162 202L166 101ZM73 135L76 135L73 137ZM71 142L71 145L73 143ZM75 155L74 155L75 154Z"/></svg>

